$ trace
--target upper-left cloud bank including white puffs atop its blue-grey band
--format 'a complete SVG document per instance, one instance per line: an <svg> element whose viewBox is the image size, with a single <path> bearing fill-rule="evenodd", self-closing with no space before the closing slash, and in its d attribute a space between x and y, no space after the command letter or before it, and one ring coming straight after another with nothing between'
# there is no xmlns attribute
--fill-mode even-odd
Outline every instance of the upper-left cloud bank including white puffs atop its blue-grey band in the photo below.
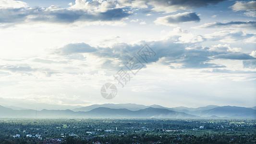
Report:
<svg viewBox="0 0 256 144"><path fill-rule="evenodd" d="M81 0L78 1L81 2ZM109 4L107 1L85 2L84 5L86 8L82 7L81 9L80 7L76 8L77 6L75 5L70 8L59 8L51 5L48 8L26 7L22 9L0 9L0 23L3 24L2 27L24 23L41 24L42 22L48 24L75 24L78 22L87 25L97 24L98 22L100 24L109 24L109 22L121 22L132 14L121 8L115 8L114 4Z"/></svg>

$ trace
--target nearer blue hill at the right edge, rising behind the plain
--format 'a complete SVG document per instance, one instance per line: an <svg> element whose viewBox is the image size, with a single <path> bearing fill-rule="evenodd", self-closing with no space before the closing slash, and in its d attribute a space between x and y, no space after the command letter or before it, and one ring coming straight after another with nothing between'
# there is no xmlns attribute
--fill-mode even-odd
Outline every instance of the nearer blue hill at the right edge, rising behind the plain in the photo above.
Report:
<svg viewBox="0 0 256 144"><path fill-rule="evenodd" d="M200 116L203 116L203 117L209 117L213 115L218 117L254 118L255 119L256 110L252 108L224 106L224 107L217 107L213 109L204 110L200 114Z"/></svg>

